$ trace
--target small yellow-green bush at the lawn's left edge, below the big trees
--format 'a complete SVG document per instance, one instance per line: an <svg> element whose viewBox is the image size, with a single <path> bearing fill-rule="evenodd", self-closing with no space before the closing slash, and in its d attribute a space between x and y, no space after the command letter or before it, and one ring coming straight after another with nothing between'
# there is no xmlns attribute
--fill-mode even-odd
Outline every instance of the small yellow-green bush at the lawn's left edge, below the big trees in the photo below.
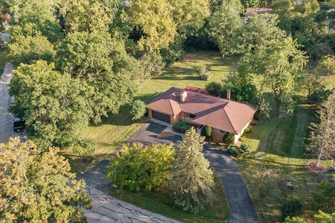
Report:
<svg viewBox="0 0 335 223"><path fill-rule="evenodd" d="M94 153L96 153L96 143L89 139L82 139L73 146L73 153L83 157L84 162L92 162L94 159Z"/></svg>

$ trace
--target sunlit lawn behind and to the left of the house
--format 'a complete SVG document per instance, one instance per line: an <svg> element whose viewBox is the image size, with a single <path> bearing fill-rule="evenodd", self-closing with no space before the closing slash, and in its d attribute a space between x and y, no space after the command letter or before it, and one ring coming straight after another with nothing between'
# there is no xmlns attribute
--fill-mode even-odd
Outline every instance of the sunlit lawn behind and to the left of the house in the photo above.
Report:
<svg viewBox="0 0 335 223"><path fill-rule="evenodd" d="M172 86L182 87L191 85L204 88L211 81L220 82L227 77L235 59L222 59L219 52L198 51L186 54L181 61L174 63L170 68L163 70L161 75L140 84L135 100L140 99L149 102L152 98L168 90ZM205 65L211 70L213 77L209 81L202 81L197 74L197 66ZM127 108L121 109L118 115L103 118L99 125L90 125L85 135L88 139L93 139L97 143L96 155L98 160L113 153L115 148L120 146L123 141L131 137L143 123L131 121L131 116ZM64 153L70 159L73 171L80 173L91 167L91 164L82 163L82 159L70 154L70 151ZM96 160L96 162L98 161ZM94 162L95 163L95 162Z"/></svg>

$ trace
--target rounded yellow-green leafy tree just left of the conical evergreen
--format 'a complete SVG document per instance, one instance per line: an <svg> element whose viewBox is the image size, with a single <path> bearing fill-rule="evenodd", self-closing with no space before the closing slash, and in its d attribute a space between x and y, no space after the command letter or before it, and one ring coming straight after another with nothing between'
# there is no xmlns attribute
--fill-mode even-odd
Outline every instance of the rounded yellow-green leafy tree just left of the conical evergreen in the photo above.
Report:
<svg viewBox="0 0 335 223"><path fill-rule="evenodd" d="M173 160L173 145L124 144L121 152L110 161L107 180L118 185L121 190L126 187L131 191L144 189L150 191L165 185L170 179Z"/></svg>

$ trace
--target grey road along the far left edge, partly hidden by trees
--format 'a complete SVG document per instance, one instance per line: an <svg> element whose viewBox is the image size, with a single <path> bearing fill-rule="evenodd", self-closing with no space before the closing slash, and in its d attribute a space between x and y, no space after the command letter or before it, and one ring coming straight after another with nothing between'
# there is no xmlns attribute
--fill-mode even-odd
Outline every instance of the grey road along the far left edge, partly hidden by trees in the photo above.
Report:
<svg viewBox="0 0 335 223"><path fill-rule="evenodd" d="M8 33L1 33L4 41L9 41ZM5 142L13 134L13 115L8 112L13 97L8 93L10 79L13 77L13 66L6 63L0 78L0 143Z"/></svg>

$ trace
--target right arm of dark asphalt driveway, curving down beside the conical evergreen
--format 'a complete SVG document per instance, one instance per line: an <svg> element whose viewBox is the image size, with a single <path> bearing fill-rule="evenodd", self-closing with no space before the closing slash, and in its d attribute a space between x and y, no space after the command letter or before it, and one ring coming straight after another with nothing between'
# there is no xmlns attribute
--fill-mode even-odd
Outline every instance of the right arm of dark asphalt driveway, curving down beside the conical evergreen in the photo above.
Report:
<svg viewBox="0 0 335 223"><path fill-rule="evenodd" d="M205 145L203 152L225 186L231 211L230 223L259 222L243 176L234 160L216 146Z"/></svg>

